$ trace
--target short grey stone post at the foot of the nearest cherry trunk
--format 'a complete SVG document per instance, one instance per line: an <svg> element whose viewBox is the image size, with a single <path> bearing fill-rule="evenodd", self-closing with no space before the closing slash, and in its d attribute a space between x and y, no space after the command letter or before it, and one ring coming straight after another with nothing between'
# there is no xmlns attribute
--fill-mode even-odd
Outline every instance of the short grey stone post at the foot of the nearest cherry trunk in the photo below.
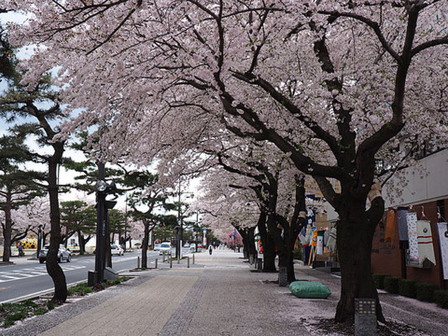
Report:
<svg viewBox="0 0 448 336"><path fill-rule="evenodd" d="M375 299L355 299L355 336L376 336Z"/></svg>

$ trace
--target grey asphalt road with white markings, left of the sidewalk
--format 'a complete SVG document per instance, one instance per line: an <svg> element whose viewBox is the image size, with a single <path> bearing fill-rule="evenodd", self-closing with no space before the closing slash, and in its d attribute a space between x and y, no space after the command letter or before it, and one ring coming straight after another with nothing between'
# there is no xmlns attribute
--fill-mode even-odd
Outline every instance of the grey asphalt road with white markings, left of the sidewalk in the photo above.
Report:
<svg viewBox="0 0 448 336"><path fill-rule="evenodd" d="M137 266L137 257L141 252L125 253L123 256L112 256L112 268L116 272L128 271ZM158 253L148 251L148 264L159 258ZM11 259L16 264L0 266L0 304L14 302L35 295L42 295L54 289L53 281L48 275L45 264L38 260L25 258ZM94 270L95 257L74 256L71 262L59 264L65 274L67 284L87 281L88 270Z"/></svg>

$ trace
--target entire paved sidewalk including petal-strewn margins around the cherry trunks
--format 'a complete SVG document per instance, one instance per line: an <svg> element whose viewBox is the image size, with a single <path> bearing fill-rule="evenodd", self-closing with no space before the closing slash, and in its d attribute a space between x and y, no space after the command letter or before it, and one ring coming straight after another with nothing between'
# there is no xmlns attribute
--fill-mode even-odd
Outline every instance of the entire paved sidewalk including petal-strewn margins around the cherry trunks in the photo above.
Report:
<svg viewBox="0 0 448 336"><path fill-rule="evenodd" d="M75 300L0 335L167 335L260 336L349 335L332 330L340 278L296 265L296 279L327 285L327 299L298 299L274 284L276 273L258 273L241 253L198 253L190 268L184 259L159 262L158 269L89 297ZM380 293L386 319L396 333L445 335L448 311L435 304Z"/></svg>

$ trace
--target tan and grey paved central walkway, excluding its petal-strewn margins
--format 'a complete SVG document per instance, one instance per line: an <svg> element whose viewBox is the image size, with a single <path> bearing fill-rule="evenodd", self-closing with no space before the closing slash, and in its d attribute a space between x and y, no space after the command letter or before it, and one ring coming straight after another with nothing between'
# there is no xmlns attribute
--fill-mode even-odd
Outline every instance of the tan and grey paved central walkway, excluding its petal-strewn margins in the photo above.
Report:
<svg viewBox="0 0 448 336"><path fill-rule="evenodd" d="M285 319L288 288L263 284L277 275L251 272L243 261L215 250L196 254L190 268L186 260L171 269L159 263L137 273L147 281L39 335L310 335Z"/></svg>

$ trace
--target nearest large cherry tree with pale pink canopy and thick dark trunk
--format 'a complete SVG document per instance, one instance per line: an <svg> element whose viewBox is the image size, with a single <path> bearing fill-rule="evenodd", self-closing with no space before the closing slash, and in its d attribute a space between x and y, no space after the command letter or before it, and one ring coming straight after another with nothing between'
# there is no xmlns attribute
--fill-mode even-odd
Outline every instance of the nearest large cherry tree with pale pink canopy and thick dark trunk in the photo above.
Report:
<svg viewBox="0 0 448 336"><path fill-rule="evenodd" d="M336 320L353 318L356 297L376 299L384 320L370 268L383 203L366 210L367 194L411 157L400 142L446 143L446 0L6 6L32 13L14 33L39 46L26 81L58 66L68 108L83 109L65 132L107 122L111 158L152 159L174 141L205 141L216 125L275 144L339 215Z"/></svg>

